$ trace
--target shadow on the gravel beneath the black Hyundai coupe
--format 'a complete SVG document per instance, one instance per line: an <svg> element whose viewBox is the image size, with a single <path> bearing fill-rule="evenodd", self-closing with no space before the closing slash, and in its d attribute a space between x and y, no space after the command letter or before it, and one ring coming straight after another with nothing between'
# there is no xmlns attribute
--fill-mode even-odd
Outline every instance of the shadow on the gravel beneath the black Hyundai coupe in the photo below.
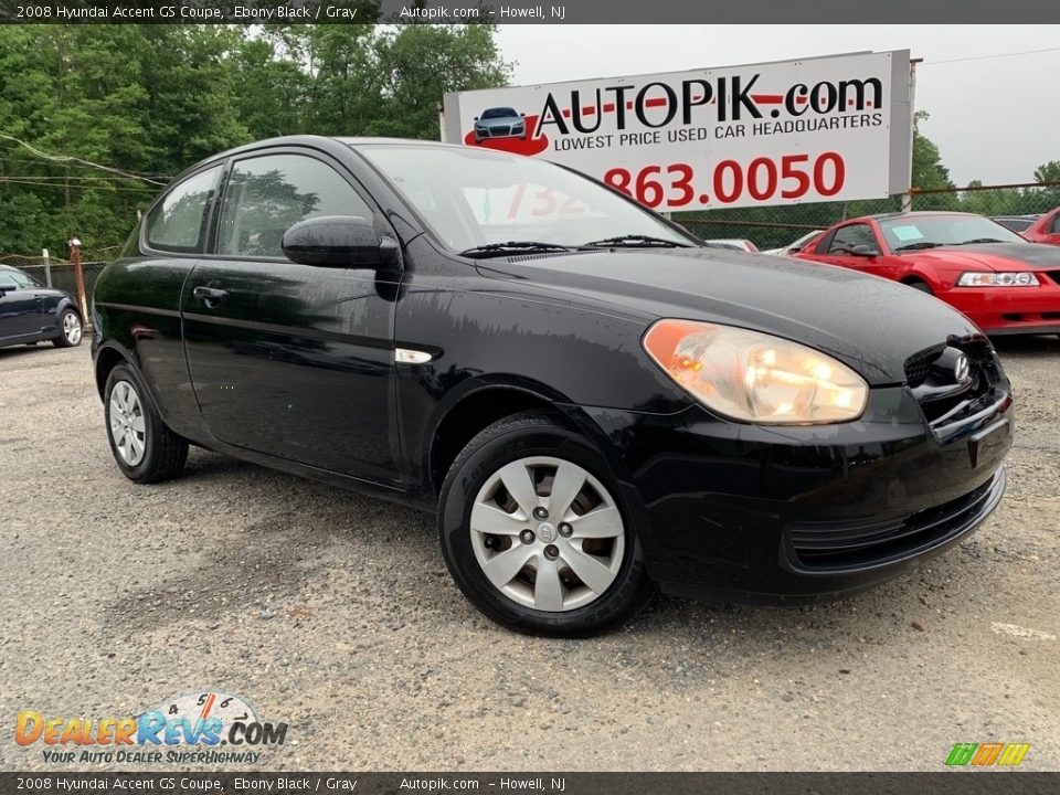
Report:
<svg viewBox="0 0 1060 795"><path fill-rule="evenodd" d="M444 626L457 635L505 633L489 624L469 623L477 614L463 602L466 610L453 610L460 597L448 577L439 575L445 565L434 519L426 513L199 449L192 452L186 475L170 485L178 490L189 486L193 494L187 495L188 500L202 499L203 486L216 496L224 505L219 521L229 529L199 550L195 565L177 566L173 576L138 584L113 602L107 610L112 627L152 630L166 624L203 621L210 625L231 619L233 614L242 619L271 618L276 614L271 611L311 601L307 583L319 579L344 582L365 555L400 544L401 566L388 566L380 553L379 568L362 575L369 582L338 585L331 594L339 600L337 610L352 608L341 601L358 598L359 589L378 580L372 590L391 594L391 604L378 616L362 614L364 618L386 622L391 612L401 612L401 601L407 598L420 605L420 618L436 628ZM241 522L247 515L257 518ZM213 519L208 516L204 521ZM751 643L757 651L772 655L778 639L788 649L824 649L837 637L878 640L899 632L915 633L912 623L923 627L933 612L928 607L936 601L932 592L946 587L951 595L953 591L976 591L974 582L965 582L975 575L965 571L977 558L972 544L952 550L932 562L930 570L914 569L863 594L834 602L777 607L656 595L612 635L633 632L644 637L681 637L704 647L720 643L721 649L739 637L734 648ZM180 556L168 549L161 554ZM425 583L431 592L417 593ZM977 593L965 595L973 602L982 598ZM357 605L370 613L379 607ZM284 632L285 626L282 621L275 630Z"/></svg>

